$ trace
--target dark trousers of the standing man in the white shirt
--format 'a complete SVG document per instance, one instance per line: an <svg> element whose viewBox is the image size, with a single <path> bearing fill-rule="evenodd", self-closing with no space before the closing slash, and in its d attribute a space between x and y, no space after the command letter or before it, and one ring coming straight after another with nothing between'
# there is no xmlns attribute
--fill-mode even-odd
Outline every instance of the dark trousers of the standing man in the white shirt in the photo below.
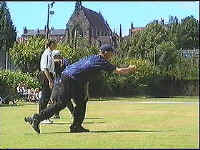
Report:
<svg viewBox="0 0 200 150"><path fill-rule="evenodd" d="M53 79L53 74L50 73L51 78ZM51 89L49 87L49 80L47 79L43 71L40 72L40 83L42 85L42 96L39 100L39 113L47 108L51 96Z"/></svg>

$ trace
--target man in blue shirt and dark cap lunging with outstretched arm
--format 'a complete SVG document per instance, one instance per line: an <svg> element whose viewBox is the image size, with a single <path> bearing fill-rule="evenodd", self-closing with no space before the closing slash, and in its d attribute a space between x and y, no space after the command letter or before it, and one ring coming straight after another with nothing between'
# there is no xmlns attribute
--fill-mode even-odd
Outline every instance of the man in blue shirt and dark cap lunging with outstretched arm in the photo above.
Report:
<svg viewBox="0 0 200 150"><path fill-rule="evenodd" d="M82 127L88 101L88 82L95 80L101 71L123 75L135 72L136 70L135 66L118 68L112 65L109 60L112 58L114 52L115 50L112 46L103 45L100 47L100 53L98 55L82 58L67 66L61 75L62 87L60 88L60 92L56 95L59 99L57 103L49 106L39 114L34 114L33 117L27 117L33 129L37 133L40 133L40 122L64 109L70 99L73 98L76 107L74 109L74 119L70 126L70 132L89 132L88 129Z"/></svg>

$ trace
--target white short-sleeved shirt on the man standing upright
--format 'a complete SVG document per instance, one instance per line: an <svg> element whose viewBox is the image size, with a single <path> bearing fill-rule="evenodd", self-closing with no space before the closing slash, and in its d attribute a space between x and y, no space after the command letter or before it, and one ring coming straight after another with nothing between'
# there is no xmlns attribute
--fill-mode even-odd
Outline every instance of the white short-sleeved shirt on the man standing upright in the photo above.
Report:
<svg viewBox="0 0 200 150"><path fill-rule="evenodd" d="M50 49L45 49L43 52L40 60L40 69L41 71L48 69L49 72L54 73L54 60Z"/></svg>

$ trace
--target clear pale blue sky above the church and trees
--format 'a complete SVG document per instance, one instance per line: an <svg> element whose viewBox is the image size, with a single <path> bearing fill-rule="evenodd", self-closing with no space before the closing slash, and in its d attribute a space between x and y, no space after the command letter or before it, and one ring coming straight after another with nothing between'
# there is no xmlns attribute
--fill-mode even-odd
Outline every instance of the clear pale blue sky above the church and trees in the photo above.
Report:
<svg viewBox="0 0 200 150"><path fill-rule="evenodd" d="M50 1L7 1L11 19L17 29L17 36L23 34L23 28L44 29L47 24L48 3ZM169 16L179 20L193 15L199 20L198 1L82 1L82 5L101 12L112 31L128 35L131 23L134 27L145 27L151 21L161 18L168 22ZM75 1L55 1L51 10L50 28L65 29L75 8Z"/></svg>

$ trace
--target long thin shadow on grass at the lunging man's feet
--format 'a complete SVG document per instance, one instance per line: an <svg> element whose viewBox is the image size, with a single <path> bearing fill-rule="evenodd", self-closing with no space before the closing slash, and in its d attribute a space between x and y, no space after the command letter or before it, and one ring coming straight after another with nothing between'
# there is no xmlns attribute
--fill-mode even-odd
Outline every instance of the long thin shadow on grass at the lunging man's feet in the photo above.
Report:
<svg viewBox="0 0 200 150"><path fill-rule="evenodd" d="M165 131L160 131L160 130L111 130L111 131L90 131L90 132L82 132L82 133L71 133L71 132L48 132L48 133L40 133L40 134L61 134L61 133L71 133L71 134L84 134L84 133L136 133L136 132L141 132L141 133L154 133L154 132L170 132L173 130L165 130Z"/></svg>

